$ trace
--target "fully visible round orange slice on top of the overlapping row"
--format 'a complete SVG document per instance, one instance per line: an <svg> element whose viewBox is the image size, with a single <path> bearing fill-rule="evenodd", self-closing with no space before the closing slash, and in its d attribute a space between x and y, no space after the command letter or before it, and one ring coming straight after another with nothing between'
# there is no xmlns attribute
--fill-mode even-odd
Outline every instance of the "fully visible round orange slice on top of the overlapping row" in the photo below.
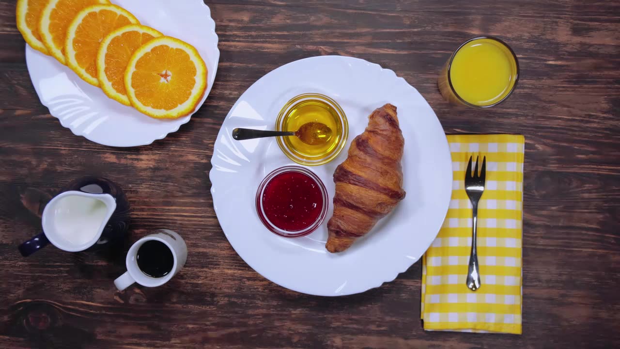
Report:
<svg viewBox="0 0 620 349"><path fill-rule="evenodd" d="M158 37L138 48L125 71L131 105L156 119L177 119L196 109L205 94L205 61L192 45Z"/></svg>

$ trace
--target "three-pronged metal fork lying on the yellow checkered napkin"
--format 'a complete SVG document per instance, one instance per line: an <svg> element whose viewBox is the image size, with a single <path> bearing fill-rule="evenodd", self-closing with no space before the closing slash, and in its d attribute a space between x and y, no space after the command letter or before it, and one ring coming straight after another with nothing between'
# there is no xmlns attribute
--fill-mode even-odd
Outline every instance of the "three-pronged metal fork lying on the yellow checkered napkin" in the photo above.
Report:
<svg viewBox="0 0 620 349"><path fill-rule="evenodd" d="M471 201L473 211L472 215L472 237L471 237L471 255L469 255L469 270L467 270L467 288L476 291L480 288L480 273L478 269L478 252L476 251L476 227L478 223L478 201L484 192L484 178L487 172L487 156L482 158L482 168L478 174L478 164L480 156L476 157L476 167L474 173L471 172L471 162L474 156L469 158L467 171L465 173L465 192Z"/></svg>

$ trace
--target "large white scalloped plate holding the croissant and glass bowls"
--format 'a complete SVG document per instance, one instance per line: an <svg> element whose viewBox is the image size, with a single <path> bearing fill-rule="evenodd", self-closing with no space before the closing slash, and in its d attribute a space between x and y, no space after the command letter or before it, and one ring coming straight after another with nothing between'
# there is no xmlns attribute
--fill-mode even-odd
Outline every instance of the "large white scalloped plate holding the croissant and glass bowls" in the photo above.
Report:
<svg viewBox="0 0 620 349"><path fill-rule="evenodd" d="M405 151L405 199L390 215L343 253L325 250L327 219L307 237L288 239L269 232L255 211L260 181L272 170L294 165L274 138L237 142L236 127L272 130L280 108L300 93L322 93L347 115L347 146L332 162L309 167L327 188L333 212L337 165L368 116L389 102L397 107ZM213 205L224 234L248 265L274 283L320 296L366 291L407 270L435 239L450 201L452 165L448 141L435 112L418 91L394 71L351 57L324 56L294 61L260 78L239 97L224 120L211 158Z"/></svg>

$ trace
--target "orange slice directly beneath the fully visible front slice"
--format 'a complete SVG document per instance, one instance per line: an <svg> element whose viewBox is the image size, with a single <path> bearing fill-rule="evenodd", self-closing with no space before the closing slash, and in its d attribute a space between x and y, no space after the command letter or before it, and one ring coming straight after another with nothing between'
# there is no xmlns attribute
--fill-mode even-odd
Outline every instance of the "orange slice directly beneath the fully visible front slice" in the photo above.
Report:
<svg viewBox="0 0 620 349"><path fill-rule="evenodd" d="M125 90L125 70L131 55L144 43L161 37L157 30L145 25L130 24L108 34L97 53L99 87L108 97L131 106Z"/></svg>

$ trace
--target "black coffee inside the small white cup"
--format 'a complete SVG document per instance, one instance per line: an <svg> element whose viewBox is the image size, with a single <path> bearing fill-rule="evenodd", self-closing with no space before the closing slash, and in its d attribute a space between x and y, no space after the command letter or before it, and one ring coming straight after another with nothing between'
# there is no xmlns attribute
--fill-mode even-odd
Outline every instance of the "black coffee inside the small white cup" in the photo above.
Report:
<svg viewBox="0 0 620 349"><path fill-rule="evenodd" d="M149 240L138 248L138 268L151 278L161 278L172 270L174 256L167 245L161 241Z"/></svg>

